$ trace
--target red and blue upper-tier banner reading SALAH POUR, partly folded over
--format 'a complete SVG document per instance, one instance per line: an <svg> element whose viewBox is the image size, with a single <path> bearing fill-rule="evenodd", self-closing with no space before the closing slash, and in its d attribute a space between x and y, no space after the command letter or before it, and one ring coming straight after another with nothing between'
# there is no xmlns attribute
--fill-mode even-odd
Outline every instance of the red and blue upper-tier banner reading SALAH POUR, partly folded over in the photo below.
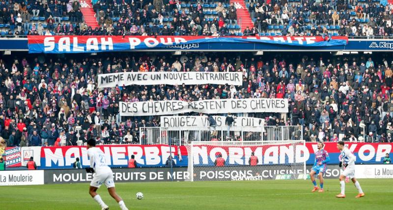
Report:
<svg viewBox="0 0 393 210"><path fill-rule="evenodd" d="M198 50L201 44L274 44L299 47L344 46L345 36L28 36L29 53L92 53L133 50ZM216 48L219 48L216 46Z"/></svg>

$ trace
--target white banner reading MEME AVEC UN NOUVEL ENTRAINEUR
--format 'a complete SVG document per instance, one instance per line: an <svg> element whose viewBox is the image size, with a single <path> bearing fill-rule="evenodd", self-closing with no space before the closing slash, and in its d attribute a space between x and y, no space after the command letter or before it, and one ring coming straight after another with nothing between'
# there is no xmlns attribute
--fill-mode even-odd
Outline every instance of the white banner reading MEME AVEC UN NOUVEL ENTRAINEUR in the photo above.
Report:
<svg viewBox="0 0 393 210"><path fill-rule="evenodd" d="M121 72L98 75L98 88L116 85L235 85L243 82L241 72Z"/></svg>

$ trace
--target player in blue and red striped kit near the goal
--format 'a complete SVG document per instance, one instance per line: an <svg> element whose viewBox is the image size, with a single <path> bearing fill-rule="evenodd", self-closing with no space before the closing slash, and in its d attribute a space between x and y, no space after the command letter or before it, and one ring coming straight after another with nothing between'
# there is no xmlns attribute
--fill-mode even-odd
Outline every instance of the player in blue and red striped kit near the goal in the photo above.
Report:
<svg viewBox="0 0 393 210"><path fill-rule="evenodd" d="M314 166L312 167L310 172L310 179L312 181L312 184L314 184L314 189L312 189L311 192L315 192L316 190L318 190L318 186L316 185L316 181L314 178L315 174L318 175L319 185L321 186L321 189L319 189L318 192L324 192L323 174L326 172L327 163L330 161L330 157L328 152L323 149L324 144L322 142L318 142L317 147L318 147L318 151L315 152Z"/></svg>

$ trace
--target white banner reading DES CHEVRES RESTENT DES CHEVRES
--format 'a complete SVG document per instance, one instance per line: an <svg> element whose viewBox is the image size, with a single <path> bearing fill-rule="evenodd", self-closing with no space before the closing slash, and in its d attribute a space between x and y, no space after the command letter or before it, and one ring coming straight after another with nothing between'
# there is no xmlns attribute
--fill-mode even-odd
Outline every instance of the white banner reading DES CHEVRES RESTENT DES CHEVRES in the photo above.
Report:
<svg viewBox="0 0 393 210"><path fill-rule="evenodd" d="M288 100L281 98L215 99L186 102L144 101L119 102L121 116L175 115L187 112L223 113L287 113Z"/></svg>

